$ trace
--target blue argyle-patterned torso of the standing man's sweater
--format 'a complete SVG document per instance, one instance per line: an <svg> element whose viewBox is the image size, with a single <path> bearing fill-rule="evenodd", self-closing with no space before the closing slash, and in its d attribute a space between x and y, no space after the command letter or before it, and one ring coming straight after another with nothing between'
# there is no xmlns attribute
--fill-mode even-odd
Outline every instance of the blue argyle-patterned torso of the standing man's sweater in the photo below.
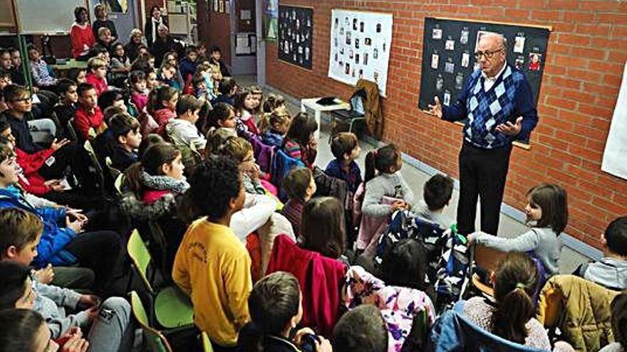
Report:
<svg viewBox="0 0 627 352"><path fill-rule="evenodd" d="M468 119L464 127L465 140L484 149L497 149L511 144L511 137L495 129L508 120L512 123L516 121L517 116L512 114L516 110L517 89L524 79L522 72L514 71L508 65L486 92L481 70L475 70L470 75L466 85L469 91L466 98Z"/></svg>

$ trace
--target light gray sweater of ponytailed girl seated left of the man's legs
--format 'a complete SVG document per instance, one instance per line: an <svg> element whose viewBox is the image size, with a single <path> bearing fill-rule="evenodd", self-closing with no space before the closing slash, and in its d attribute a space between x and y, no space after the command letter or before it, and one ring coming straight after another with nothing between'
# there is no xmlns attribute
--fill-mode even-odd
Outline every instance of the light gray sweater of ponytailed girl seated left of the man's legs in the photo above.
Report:
<svg viewBox="0 0 627 352"><path fill-rule="evenodd" d="M379 174L368 181L361 206L362 213L376 218L390 215L392 206L383 203L383 196L402 198L405 203L410 204L414 201L414 193L400 171L394 174Z"/></svg>

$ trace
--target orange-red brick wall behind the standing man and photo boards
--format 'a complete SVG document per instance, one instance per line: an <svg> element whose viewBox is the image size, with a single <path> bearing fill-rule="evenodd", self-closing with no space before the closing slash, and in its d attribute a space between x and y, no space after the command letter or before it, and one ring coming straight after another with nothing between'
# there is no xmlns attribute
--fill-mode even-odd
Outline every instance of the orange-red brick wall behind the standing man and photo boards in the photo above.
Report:
<svg viewBox="0 0 627 352"><path fill-rule="evenodd" d="M540 121L532 149L514 149L504 201L522 209L527 189L539 182L559 183L569 192L566 232L599 248L608 222L627 215L627 181L601 171L627 60L627 1L291 0L289 4L314 7L314 67L308 71L287 65L277 60L276 45L268 45L268 84L296 97L336 95L346 100L351 87L327 78L331 9L392 13L383 138L455 177L461 127L418 110L424 18L553 26L538 104Z"/></svg>

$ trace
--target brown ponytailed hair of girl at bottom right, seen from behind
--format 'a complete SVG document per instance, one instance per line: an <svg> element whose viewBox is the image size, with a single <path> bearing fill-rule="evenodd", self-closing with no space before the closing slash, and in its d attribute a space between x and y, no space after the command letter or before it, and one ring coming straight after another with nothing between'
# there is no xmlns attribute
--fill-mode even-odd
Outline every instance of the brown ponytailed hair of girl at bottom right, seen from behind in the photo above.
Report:
<svg viewBox="0 0 627 352"><path fill-rule="evenodd" d="M539 284L535 262L524 253L509 253L499 262L490 324L495 335L516 343L527 338L527 322L535 315L532 297Z"/></svg>

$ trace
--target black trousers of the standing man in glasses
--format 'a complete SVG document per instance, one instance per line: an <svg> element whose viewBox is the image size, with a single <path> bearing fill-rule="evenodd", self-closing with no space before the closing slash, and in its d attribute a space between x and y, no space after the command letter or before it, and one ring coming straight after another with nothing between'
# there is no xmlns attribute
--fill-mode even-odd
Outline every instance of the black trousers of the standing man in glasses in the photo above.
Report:
<svg viewBox="0 0 627 352"><path fill-rule="evenodd" d="M457 231L462 235L475 232L477 197L481 201L481 230L497 235L511 154L511 144L506 148L482 149L464 141L457 203Z"/></svg>

